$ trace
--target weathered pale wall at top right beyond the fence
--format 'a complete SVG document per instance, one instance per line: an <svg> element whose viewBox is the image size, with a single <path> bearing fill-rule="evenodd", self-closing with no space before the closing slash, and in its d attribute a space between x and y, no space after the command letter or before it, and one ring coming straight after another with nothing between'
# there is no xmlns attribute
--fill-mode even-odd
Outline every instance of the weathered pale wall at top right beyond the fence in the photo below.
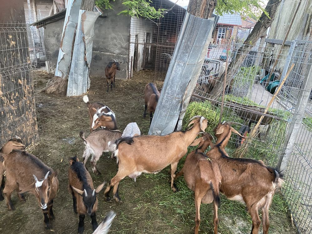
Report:
<svg viewBox="0 0 312 234"><path fill-rule="evenodd" d="M283 1L282 1L283 2ZM285 34L289 27L289 24L292 20L292 17L295 13L298 2L293 2L292 0L285 0L284 4L280 4L279 9L275 15L275 18L272 22L270 34L268 38L284 40ZM304 24L305 14L309 14L309 17ZM312 27L312 0L306 0L301 3L298 13L296 15L295 21L291 27L291 30L288 34L287 41L292 41L296 37L305 37L309 33ZM268 43L268 46L272 47L275 51L279 50L280 45ZM281 73L283 67L285 66L285 60L288 54L289 46L285 46L282 51L280 62L277 65L277 70ZM265 56L270 57L271 50L265 51ZM266 66L269 67L269 60L266 61Z"/></svg>

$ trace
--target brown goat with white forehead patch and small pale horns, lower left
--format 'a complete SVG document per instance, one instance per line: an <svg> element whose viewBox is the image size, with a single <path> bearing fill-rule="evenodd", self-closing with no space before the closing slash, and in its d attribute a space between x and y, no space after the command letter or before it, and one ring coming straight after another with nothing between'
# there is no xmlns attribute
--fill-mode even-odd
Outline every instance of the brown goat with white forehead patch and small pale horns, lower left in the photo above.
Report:
<svg viewBox="0 0 312 234"><path fill-rule="evenodd" d="M50 229L50 220L54 219L53 199L59 189L57 172L44 164L39 158L25 151L13 150L4 155L6 183L3 190L9 210L14 210L11 194L33 193L42 209L46 228Z"/></svg>

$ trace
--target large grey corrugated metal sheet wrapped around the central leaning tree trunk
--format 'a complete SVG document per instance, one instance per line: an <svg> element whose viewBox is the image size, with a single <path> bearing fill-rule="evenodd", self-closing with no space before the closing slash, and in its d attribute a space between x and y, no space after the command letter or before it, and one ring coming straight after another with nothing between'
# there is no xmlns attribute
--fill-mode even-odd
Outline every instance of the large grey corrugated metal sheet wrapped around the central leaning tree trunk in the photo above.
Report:
<svg viewBox="0 0 312 234"><path fill-rule="evenodd" d="M182 105L188 103L196 85L212 35L214 18L202 19L186 13L178 36L149 134L172 133Z"/></svg>

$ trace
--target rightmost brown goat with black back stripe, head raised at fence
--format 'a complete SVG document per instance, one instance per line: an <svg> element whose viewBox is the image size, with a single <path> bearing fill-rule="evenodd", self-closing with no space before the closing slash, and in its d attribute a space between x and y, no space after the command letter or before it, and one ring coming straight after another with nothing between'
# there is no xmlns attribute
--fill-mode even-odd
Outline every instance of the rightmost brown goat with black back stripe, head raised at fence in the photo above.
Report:
<svg viewBox="0 0 312 234"><path fill-rule="evenodd" d="M274 168L266 166L262 161L249 158L230 158L225 151L231 133L240 135L231 127L232 122L218 124L214 129L217 141L207 156L218 163L222 182L221 192L229 200L246 204L251 215L251 234L258 234L262 211L263 234L269 230L269 207L274 193L281 188L282 174ZM240 135L241 136L241 135ZM241 136L242 137L242 136Z"/></svg>

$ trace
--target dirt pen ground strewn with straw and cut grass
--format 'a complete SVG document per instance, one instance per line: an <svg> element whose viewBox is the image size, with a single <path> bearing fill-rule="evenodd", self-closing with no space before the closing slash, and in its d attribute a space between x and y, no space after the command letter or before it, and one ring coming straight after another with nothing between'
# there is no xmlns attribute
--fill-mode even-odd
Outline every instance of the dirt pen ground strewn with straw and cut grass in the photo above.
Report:
<svg viewBox="0 0 312 234"><path fill-rule="evenodd" d="M51 74L35 72L37 89L45 86ZM100 101L108 105L116 114L119 129L130 122L137 122L142 134L147 134L149 118L143 119L144 86L154 82L158 88L163 80L155 80L153 71L141 71L134 74L132 80L116 80L116 88L106 93L106 81L103 77L91 77L88 92L91 102ZM60 190L54 201L56 220L53 230L45 230L41 209L32 194L26 196L26 203L18 201L13 194L15 211L7 211L5 202L0 203L0 233L77 233L78 215L72 210L72 198L67 191L68 158L78 155L81 159L84 150L79 137L80 130L89 134L89 117L82 96L64 97L37 93L36 98L39 139L28 151L53 169L60 169L58 179ZM116 161L104 154L98 162L102 173L95 176L89 166L94 185L109 182L118 168ZM153 157L153 156L151 156ZM179 165L181 168L181 165ZM119 195L123 204L105 202L103 191L98 194L97 219L109 210L117 216L111 227L111 233L193 233L195 226L195 208L193 192L186 186L183 178L178 180L178 193L172 193L168 184L167 169L157 175L143 174L134 182L125 178L119 186ZM251 219L245 207L222 197L219 209L219 232L225 234L250 233ZM212 233L212 205L202 205L200 233ZM288 208L281 195L274 197L270 209L270 233L297 233L291 227ZM91 220L85 218L85 233L92 233Z"/></svg>

